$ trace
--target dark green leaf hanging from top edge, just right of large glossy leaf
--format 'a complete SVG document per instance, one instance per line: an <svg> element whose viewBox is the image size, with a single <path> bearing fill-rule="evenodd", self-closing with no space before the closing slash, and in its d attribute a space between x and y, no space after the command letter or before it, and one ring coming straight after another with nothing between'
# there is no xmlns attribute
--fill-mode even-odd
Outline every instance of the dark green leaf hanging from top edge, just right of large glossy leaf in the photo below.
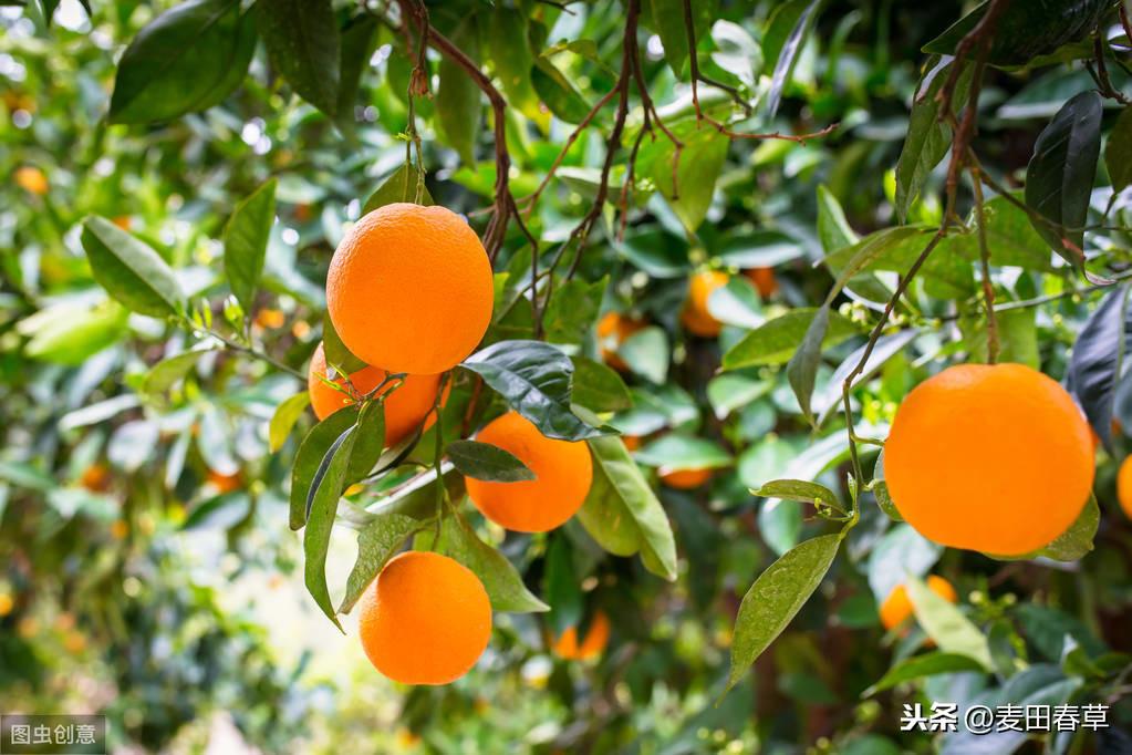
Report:
<svg viewBox="0 0 1132 755"><path fill-rule="evenodd" d="M258 0L255 14L272 66L300 97L334 118L342 43L331 0Z"/></svg>

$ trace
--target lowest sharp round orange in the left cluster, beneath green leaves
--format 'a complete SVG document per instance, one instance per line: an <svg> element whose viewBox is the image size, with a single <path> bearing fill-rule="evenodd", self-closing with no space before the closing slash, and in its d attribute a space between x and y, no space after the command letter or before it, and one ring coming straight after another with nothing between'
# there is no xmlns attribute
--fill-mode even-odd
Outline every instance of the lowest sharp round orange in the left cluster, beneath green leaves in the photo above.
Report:
<svg viewBox="0 0 1132 755"><path fill-rule="evenodd" d="M358 633L374 667L402 684L448 684L491 638L488 593L468 567L412 550L389 560L359 602Z"/></svg>

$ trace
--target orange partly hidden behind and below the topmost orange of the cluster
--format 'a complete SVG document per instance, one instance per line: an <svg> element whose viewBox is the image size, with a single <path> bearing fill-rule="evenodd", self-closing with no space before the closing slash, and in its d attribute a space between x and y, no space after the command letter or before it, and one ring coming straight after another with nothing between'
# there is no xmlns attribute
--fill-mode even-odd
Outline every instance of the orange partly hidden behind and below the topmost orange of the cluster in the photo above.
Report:
<svg viewBox="0 0 1132 755"><path fill-rule="evenodd" d="M388 372L379 367L365 367L350 375L350 383L359 394L367 394L381 384ZM307 370L307 391L310 393L310 405L320 420L354 403L354 398L344 391L336 391L323 383L326 377L326 352L318 344L310 358ZM334 383L345 386L342 377ZM392 385L392 384L391 384ZM395 446L417 431L421 421L427 430L436 421L432 404L436 403L436 392L440 387L439 375L406 375L396 391L385 398L385 445ZM388 391L389 386L383 388ZM447 393L447 392L445 392Z"/></svg>

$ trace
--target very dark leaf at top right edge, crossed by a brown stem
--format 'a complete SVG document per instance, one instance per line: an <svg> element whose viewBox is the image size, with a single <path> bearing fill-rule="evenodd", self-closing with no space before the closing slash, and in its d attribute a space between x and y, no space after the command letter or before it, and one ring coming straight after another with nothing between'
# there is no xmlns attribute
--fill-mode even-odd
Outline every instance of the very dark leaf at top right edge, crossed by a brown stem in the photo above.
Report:
<svg viewBox="0 0 1132 755"><path fill-rule="evenodd" d="M994 34L987 62L998 67L1024 66L1034 58L1053 53L1057 48L1096 28L1109 0L1069 0L1066 2L1011 2L1003 10ZM941 55L955 53L959 42L986 15L988 3L952 24L947 31L924 45L924 52Z"/></svg>

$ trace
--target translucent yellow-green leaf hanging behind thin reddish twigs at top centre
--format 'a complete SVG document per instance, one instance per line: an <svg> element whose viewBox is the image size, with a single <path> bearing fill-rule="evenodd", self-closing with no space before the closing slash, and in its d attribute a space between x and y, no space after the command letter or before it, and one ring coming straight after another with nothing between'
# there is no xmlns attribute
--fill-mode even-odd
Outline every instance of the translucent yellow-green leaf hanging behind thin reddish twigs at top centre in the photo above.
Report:
<svg viewBox="0 0 1132 755"><path fill-rule="evenodd" d="M679 153L675 186L672 163L677 154L671 145L652 164L653 181L688 232L694 233L707 216L728 145L730 139L715 129L693 132L684 140L684 149Z"/></svg>

